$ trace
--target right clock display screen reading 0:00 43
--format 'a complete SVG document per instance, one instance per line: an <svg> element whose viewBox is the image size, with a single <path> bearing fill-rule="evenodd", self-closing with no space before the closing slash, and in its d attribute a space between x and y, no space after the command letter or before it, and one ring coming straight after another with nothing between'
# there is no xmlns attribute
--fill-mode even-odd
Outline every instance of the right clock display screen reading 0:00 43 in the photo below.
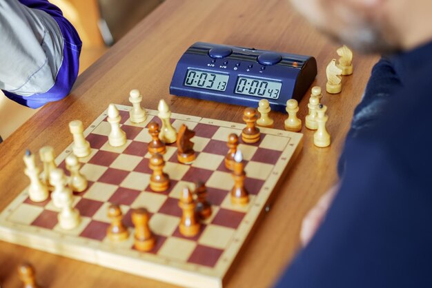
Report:
<svg viewBox="0 0 432 288"><path fill-rule="evenodd" d="M235 93L278 99L281 88L281 82L239 76L235 86Z"/></svg>

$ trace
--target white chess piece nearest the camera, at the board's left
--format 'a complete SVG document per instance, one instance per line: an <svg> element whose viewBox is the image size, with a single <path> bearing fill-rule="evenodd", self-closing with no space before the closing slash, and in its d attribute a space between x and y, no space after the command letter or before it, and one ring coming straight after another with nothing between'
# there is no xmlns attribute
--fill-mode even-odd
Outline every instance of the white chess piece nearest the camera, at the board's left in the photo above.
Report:
<svg viewBox="0 0 432 288"><path fill-rule="evenodd" d="M55 171L52 173L55 173ZM57 197L57 203L61 207L61 212L57 216L60 227L65 230L77 227L81 219L78 210L73 207L72 190L69 187L64 187Z"/></svg>

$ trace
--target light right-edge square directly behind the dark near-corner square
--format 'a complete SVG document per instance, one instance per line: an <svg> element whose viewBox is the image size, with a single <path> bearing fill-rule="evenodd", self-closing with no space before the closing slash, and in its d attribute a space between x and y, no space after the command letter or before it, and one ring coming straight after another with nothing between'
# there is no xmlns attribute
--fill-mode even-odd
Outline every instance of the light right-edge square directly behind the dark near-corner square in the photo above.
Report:
<svg viewBox="0 0 432 288"><path fill-rule="evenodd" d="M198 243L209 247L225 249L233 238L235 229L210 224L206 227Z"/></svg>

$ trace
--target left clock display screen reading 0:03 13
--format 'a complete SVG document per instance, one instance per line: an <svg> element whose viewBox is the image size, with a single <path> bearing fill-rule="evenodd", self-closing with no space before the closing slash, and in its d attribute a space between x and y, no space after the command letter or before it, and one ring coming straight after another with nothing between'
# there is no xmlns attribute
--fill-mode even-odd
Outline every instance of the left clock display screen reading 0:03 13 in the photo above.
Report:
<svg viewBox="0 0 432 288"><path fill-rule="evenodd" d="M189 69L184 80L185 86L225 91L230 76L214 72Z"/></svg>

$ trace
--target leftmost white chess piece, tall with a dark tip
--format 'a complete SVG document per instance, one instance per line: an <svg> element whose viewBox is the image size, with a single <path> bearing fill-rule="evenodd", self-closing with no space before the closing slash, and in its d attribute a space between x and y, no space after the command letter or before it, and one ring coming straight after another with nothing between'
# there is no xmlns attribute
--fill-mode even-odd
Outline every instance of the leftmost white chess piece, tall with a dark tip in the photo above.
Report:
<svg viewBox="0 0 432 288"><path fill-rule="evenodd" d="M26 151L23 157L26 163L24 173L30 178L30 186L28 187L28 196L33 202L43 202L48 199L48 186L39 179L39 168L35 164L35 155L31 154L30 150Z"/></svg>

